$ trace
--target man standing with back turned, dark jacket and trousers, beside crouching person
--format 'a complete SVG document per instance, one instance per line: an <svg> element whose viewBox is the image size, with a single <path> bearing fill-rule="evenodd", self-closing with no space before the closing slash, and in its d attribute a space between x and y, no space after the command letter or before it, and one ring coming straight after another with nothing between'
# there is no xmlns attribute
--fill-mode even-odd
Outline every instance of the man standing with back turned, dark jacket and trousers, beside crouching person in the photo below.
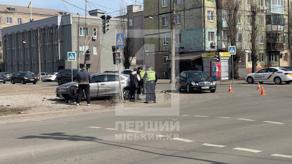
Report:
<svg viewBox="0 0 292 164"><path fill-rule="evenodd" d="M85 91L87 105L92 105L90 103L90 85L89 85L92 78L91 78L91 74L87 72L85 69L86 67L83 66L81 71L79 71L76 76L76 81L78 81L78 98L77 98L77 104L76 104L77 106L81 102L83 90Z"/></svg>

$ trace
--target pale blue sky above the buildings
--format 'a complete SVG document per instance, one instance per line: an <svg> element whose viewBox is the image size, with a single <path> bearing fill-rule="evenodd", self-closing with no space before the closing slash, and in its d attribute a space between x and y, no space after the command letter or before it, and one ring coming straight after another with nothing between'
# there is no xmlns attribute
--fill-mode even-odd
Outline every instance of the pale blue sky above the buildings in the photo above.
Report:
<svg viewBox="0 0 292 164"><path fill-rule="evenodd" d="M85 15L85 0L1 0L0 4L28 6L30 1L32 9L34 7L55 9ZM126 7L135 4L135 1L137 5L143 3L143 0L87 0L87 11L99 9L106 11L110 16L116 17L119 15L120 2Z"/></svg>

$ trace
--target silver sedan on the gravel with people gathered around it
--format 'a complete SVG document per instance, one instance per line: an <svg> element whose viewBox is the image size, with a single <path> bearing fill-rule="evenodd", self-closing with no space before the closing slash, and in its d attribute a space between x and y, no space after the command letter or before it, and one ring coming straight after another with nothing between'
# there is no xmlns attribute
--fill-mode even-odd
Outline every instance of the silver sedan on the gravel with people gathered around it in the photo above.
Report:
<svg viewBox="0 0 292 164"><path fill-rule="evenodd" d="M117 73L96 73L91 75L90 96L91 97L108 97L119 95L119 75ZM77 82L70 82L60 85L56 88L56 96L64 98L65 91L68 87L76 85ZM123 95L128 98L130 90L130 78L126 75L121 75L121 87ZM85 97L85 94L83 95Z"/></svg>

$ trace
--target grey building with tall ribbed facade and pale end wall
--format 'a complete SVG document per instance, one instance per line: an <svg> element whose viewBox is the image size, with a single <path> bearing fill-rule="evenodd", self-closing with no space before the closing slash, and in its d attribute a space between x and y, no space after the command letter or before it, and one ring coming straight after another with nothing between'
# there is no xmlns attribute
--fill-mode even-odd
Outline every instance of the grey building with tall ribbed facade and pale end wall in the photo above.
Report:
<svg viewBox="0 0 292 164"><path fill-rule="evenodd" d="M5 71L38 70L38 38L40 39L41 72L58 72L60 69L78 68L78 61L67 61L67 52L91 51L86 61L91 73L117 70L113 65L111 46L115 45L118 19L111 18L110 31L102 32L104 12L90 12L85 25L85 16L64 15L5 27L2 29L3 63ZM86 27L86 28L85 28ZM80 66L84 65L84 56Z"/></svg>

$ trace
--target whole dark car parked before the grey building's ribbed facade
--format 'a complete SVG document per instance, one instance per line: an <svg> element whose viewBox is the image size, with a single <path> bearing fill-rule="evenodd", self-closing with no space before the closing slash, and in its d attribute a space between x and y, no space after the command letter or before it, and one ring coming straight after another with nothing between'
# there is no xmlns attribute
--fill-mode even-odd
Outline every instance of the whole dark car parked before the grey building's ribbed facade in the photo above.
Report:
<svg viewBox="0 0 292 164"><path fill-rule="evenodd" d="M11 84L20 83L33 83L37 84L37 77L33 76L31 73L28 72L16 72L13 73L11 76Z"/></svg>

